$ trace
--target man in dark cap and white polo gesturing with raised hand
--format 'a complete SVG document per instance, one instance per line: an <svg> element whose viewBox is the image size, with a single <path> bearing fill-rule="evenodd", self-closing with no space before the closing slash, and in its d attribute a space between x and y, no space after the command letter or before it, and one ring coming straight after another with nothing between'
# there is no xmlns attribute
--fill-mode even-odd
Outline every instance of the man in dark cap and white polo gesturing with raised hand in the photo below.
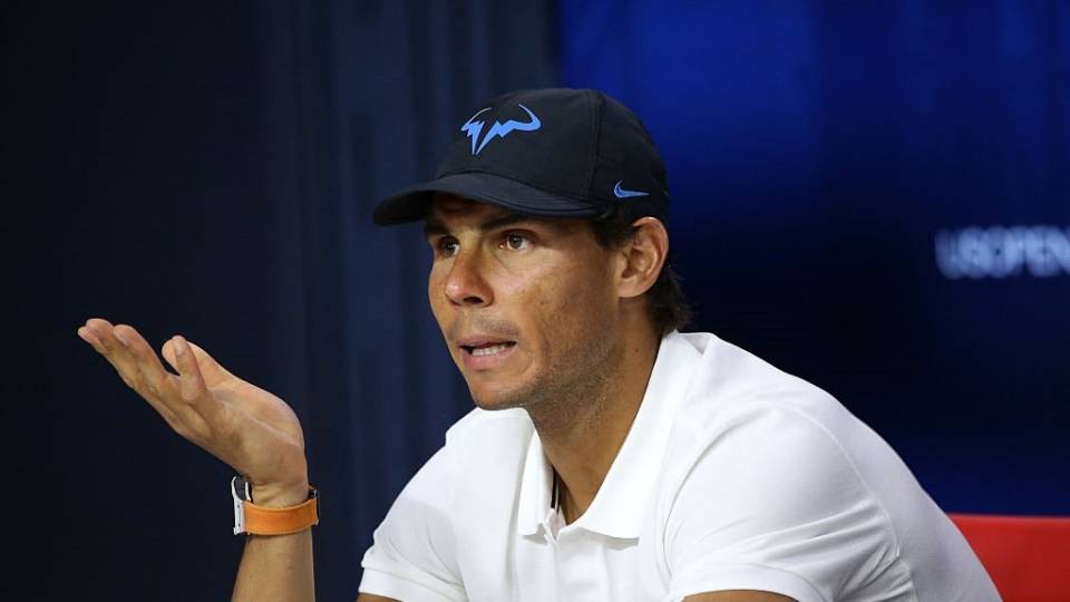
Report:
<svg viewBox="0 0 1070 602"><path fill-rule="evenodd" d="M677 331L668 207L629 109L543 89L478 107L436 179L377 208L424 220L428 298L478 408L376 531L360 600L999 600L875 433ZM79 334L251 484L235 598L311 599L314 499L285 404L181 337L163 349L176 377L130 327Z"/></svg>

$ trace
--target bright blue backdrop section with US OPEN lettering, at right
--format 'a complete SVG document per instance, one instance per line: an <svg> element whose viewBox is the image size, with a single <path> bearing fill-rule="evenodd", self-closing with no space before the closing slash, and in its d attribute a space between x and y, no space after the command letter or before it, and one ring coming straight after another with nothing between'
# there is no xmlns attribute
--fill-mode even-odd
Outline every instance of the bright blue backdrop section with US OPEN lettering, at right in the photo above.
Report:
<svg viewBox="0 0 1070 602"><path fill-rule="evenodd" d="M564 1L664 154L696 327L946 509L1070 514L1070 4Z"/></svg>

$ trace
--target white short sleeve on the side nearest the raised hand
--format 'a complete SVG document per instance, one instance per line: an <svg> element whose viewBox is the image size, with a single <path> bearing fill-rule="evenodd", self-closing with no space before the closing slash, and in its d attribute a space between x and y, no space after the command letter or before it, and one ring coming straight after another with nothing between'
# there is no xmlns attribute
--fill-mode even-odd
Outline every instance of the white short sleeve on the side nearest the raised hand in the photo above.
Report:
<svg viewBox="0 0 1070 602"><path fill-rule="evenodd" d="M442 448L398 495L364 553L361 593L395 600L467 600L455 562L448 469L448 448Z"/></svg>

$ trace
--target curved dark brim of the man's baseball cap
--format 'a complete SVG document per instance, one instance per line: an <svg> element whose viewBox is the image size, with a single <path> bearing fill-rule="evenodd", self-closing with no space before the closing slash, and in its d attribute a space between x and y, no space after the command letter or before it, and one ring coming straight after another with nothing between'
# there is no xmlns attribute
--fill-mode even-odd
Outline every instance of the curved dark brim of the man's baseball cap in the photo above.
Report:
<svg viewBox="0 0 1070 602"><path fill-rule="evenodd" d="M398 191L376 207L372 220L379 225L422 220L436 193L489 203L538 217L592 217L603 212L603 207L590 201L555 195L495 174L466 172Z"/></svg>

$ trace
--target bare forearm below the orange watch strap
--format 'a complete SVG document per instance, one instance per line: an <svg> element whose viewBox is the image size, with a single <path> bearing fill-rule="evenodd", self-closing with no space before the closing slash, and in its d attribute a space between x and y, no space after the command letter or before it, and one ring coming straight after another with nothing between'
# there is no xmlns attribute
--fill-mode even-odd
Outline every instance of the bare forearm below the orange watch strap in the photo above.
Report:
<svg viewBox="0 0 1070 602"><path fill-rule="evenodd" d="M312 530L252 535L234 582L235 602L312 602Z"/></svg>

